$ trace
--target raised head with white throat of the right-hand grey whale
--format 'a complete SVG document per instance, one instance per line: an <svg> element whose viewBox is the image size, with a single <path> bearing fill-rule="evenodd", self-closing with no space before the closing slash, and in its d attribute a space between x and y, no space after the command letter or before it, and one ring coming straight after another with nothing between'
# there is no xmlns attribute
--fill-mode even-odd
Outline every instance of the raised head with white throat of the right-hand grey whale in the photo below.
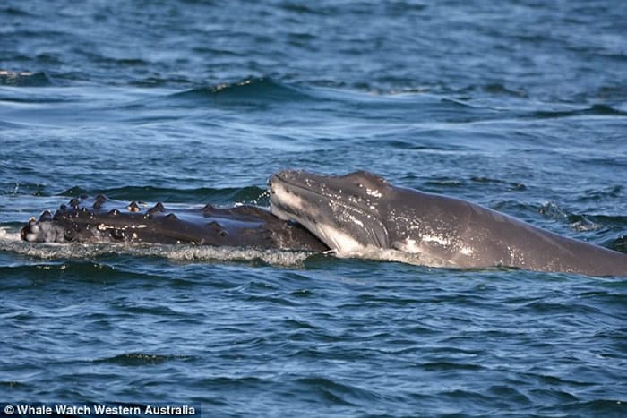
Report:
<svg viewBox="0 0 627 418"><path fill-rule="evenodd" d="M389 248L380 210L391 185L382 177L365 171L332 176L285 170L272 175L268 185L271 212L305 226L332 250Z"/></svg>

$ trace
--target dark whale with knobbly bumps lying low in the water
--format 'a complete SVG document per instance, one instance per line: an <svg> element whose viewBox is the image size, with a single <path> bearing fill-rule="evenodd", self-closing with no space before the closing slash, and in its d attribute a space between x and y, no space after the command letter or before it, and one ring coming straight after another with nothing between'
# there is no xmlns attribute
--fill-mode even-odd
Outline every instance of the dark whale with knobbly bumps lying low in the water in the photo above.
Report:
<svg viewBox="0 0 627 418"><path fill-rule="evenodd" d="M328 247L302 226L255 206L172 209L82 197L45 211L21 230L31 243L189 243L323 252Z"/></svg>

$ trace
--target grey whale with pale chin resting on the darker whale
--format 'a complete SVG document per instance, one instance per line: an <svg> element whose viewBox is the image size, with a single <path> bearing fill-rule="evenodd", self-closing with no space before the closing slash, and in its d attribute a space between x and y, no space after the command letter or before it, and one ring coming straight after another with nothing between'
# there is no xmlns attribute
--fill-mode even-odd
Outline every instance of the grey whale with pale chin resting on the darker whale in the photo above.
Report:
<svg viewBox="0 0 627 418"><path fill-rule="evenodd" d="M627 276L627 254L577 241L467 200L396 187L368 172L281 171L269 180L271 212L305 226L341 255L389 249L420 264L508 267Z"/></svg>

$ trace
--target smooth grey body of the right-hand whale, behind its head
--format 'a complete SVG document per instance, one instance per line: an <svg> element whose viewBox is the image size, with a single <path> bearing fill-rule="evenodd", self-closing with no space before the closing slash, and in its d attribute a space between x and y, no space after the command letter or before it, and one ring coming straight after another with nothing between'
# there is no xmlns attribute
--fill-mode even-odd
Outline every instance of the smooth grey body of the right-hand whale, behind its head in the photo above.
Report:
<svg viewBox="0 0 627 418"><path fill-rule="evenodd" d="M384 205L392 247L423 253L445 266L627 276L627 254L554 234L467 200L394 187Z"/></svg>

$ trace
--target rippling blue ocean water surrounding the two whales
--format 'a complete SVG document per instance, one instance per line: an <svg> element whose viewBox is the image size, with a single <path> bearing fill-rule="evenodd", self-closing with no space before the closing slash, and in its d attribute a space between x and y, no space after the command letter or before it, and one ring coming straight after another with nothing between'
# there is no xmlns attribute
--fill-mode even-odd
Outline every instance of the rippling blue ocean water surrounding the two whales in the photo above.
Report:
<svg viewBox="0 0 627 418"><path fill-rule="evenodd" d="M627 415L625 277L17 234L82 193L267 206L279 169L367 169L627 252L626 18L609 0L4 0L0 403Z"/></svg>

